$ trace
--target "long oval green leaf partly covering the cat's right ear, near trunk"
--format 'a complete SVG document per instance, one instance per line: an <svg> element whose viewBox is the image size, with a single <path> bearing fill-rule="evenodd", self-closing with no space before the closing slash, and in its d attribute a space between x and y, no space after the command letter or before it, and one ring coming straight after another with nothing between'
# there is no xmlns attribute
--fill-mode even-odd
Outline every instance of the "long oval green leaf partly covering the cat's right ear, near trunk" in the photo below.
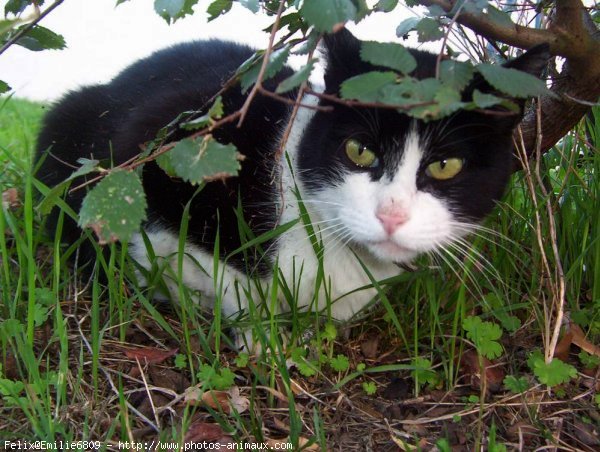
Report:
<svg viewBox="0 0 600 452"><path fill-rule="evenodd" d="M482 63L477 70L490 85L513 97L535 97L550 93L542 80L517 69Z"/></svg>

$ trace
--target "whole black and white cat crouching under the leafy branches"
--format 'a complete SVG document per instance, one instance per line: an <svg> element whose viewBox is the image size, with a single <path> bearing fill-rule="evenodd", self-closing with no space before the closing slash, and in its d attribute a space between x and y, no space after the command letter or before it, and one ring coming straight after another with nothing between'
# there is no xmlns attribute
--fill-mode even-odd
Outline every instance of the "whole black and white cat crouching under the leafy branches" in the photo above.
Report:
<svg viewBox="0 0 600 452"><path fill-rule="evenodd" d="M379 69L361 60L360 41L347 30L324 42L326 93L337 95L344 80ZM507 66L538 76L547 53L536 48ZM130 159L178 114L202 108L252 54L252 49L229 42L182 44L138 61L108 84L68 94L45 118L38 139L38 155L45 160L38 176L56 185L81 157L110 159L115 165ZM433 77L437 56L412 54L418 62L412 75ZM284 69L265 87L274 90L291 73ZM492 91L476 78L465 99L474 88ZM229 89L223 94L225 112L238 110L244 100L239 87ZM208 184L191 202L182 276L210 305L217 230L221 257L242 244L238 202L258 236L299 218L300 198L324 245L326 281L315 294L319 257L307 228L299 225L263 244L266 256L239 254L219 269L226 315L247 307L246 297L236 296L243 291L234 286L253 290L248 275L268 283L276 263L279 274L295 287L299 308L323 309L326 299L334 300L332 317L347 320L376 295L372 288L356 291L371 282L359 260L375 279L398 274L396 264L467 234L490 212L508 180L512 132L520 114L460 111L426 123L391 109L351 108L311 95L303 103L333 111L300 108L285 145L287 159L281 162L274 156L291 113L285 103L258 96L241 128L232 123L215 131L217 140L235 144L246 159L238 177ZM173 139L185 133L179 131ZM274 168L280 173L274 175ZM143 184L149 205L145 233L154 255L169 259L177 273L180 221L196 187L170 178L155 163L145 165ZM68 202L78 210L83 196L83 191L75 192ZM55 211L51 223L57 215ZM65 223L63 241L74 242L80 234L74 221ZM151 267L141 234L131 240L129 250L143 267ZM168 285L176 294L176 283Z"/></svg>

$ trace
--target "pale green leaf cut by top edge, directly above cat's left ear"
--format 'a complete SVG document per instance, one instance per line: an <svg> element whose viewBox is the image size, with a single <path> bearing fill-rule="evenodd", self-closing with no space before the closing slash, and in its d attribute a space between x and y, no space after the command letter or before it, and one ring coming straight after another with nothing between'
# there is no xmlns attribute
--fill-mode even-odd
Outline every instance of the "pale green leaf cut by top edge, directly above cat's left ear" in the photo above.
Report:
<svg viewBox="0 0 600 452"><path fill-rule="evenodd" d="M327 33L336 25L355 20L358 13L352 0L304 0L300 12L318 31Z"/></svg>

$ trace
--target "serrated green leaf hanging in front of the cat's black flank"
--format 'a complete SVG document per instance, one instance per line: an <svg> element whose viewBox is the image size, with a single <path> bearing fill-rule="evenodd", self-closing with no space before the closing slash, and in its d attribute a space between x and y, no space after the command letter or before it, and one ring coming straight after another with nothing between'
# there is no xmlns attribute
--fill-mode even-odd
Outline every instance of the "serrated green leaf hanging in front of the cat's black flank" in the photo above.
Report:
<svg viewBox="0 0 600 452"><path fill-rule="evenodd" d="M241 168L237 148L210 135L202 140L181 140L168 154L176 174L191 184L235 176Z"/></svg>

